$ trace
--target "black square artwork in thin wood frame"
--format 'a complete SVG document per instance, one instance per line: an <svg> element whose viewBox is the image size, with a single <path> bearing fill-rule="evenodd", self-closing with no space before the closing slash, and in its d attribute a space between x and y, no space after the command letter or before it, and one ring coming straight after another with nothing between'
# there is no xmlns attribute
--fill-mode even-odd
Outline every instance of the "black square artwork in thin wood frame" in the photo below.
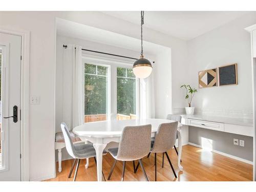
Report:
<svg viewBox="0 0 256 192"><path fill-rule="evenodd" d="M219 67L219 86L238 84L237 63Z"/></svg>

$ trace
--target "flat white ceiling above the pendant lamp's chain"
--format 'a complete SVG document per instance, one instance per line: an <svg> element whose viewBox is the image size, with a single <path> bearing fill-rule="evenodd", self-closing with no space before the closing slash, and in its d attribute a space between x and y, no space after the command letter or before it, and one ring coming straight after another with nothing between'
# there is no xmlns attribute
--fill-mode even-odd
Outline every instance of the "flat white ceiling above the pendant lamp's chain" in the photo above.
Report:
<svg viewBox="0 0 256 192"><path fill-rule="evenodd" d="M140 25L140 11L103 11ZM193 39L218 28L246 11L145 11L144 27L184 40Z"/></svg>

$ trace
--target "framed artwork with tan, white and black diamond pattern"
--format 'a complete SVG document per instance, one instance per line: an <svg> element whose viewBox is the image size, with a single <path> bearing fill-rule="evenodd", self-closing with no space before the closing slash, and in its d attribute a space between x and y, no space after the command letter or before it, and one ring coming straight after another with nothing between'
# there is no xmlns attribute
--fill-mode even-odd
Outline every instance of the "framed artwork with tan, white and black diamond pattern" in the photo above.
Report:
<svg viewBox="0 0 256 192"><path fill-rule="evenodd" d="M217 68L199 71L199 88L208 88L217 86Z"/></svg>

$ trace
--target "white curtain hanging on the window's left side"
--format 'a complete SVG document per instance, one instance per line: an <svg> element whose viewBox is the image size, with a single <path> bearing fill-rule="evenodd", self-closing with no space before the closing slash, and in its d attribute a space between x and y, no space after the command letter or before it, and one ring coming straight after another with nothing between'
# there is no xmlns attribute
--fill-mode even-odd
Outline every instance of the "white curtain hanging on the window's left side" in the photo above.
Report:
<svg viewBox="0 0 256 192"><path fill-rule="evenodd" d="M68 45L63 49L62 121L70 129L83 122L84 68L81 46Z"/></svg>

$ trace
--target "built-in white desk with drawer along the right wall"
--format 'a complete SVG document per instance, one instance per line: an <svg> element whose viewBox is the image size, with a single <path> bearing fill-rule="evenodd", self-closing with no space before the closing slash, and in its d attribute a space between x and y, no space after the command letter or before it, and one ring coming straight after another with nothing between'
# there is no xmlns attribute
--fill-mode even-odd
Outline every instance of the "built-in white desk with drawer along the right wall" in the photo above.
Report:
<svg viewBox="0 0 256 192"><path fill-rule="evenodd" d="M182 115L183 125L253 137L252 119L239 119L205 115Z"/></svg>

